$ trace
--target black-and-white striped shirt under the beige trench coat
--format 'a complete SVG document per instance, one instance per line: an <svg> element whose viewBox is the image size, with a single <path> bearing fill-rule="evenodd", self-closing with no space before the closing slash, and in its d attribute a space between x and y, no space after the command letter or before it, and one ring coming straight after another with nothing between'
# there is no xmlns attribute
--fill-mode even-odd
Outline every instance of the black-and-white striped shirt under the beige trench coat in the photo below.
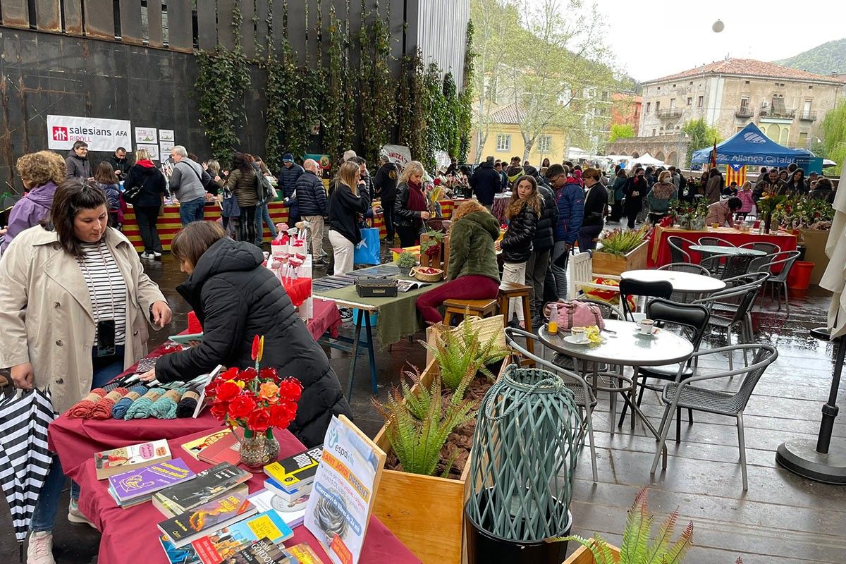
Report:
<svg viewBox="0 0 846 564"><path fill-rule="evenodd" d="M80 244L82 256L77 258L91 298L94 323L114 320L114 344L126 342L126 281L106 241ZM97 337L94 346L97 345Z"/></svg>

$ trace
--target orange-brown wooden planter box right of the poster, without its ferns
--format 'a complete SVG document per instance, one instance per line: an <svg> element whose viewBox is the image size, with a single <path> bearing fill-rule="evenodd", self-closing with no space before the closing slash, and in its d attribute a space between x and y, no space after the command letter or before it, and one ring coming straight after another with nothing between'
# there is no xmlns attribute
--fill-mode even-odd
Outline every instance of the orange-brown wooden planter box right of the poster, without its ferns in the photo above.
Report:
<svg viewBox="0 0 846 564"><path fill-rule="evenodd" d="M428 386L439 374L437 362L432 361L426 365L422 381ZM391 452L385 427L375 441L383 451ZM373 514L424 564L460 564L468 474L470 458L461 479L385 469L376 490Z"/></svg>

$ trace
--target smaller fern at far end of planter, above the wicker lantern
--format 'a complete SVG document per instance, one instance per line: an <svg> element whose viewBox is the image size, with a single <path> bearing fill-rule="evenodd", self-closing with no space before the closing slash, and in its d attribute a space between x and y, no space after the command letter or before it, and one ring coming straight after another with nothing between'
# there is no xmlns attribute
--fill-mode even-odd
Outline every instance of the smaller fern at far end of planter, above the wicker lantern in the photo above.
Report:
<svg viewBox="0 0 846 564"><path fill-rule="evenodd" d="M508 348L497 345L497 334L481 342L481 329L474 330L470 323L461 325L459 331L444 331L434 345L420 341L440 365L443 385L459 398L464 396L464 392L459 395L459 386L464 380L472 381L476 372L493 380L494 375L487 364L508 356Z"/></svg>

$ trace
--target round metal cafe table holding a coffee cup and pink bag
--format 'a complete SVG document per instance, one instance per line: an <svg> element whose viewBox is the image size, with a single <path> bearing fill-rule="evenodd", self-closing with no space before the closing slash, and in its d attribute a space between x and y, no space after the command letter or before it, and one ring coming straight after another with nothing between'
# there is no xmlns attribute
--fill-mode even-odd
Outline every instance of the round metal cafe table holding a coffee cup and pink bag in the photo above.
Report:
<svg viewBox="0 0 846 564"><path fill-rule="evenodd" d="M664 366L679 363L678 371L680 374L684 369L684 360L689 359L690 355L694 353L693 343L672 331L662 329L658 329L651 336L641 335L640 328L636 323L622 320L605 320L605 329L601 331L600 335L602 342L575 344L566 341L564 338L569 337L569 331L558 331L558 334L550 335L547 333L547 326L542 326L538 331L538 337L546 347L552 348L557 353L591 364L594 392L622 394L632 413L643 421L646 428L650 430L652 435L655 435L656 439L659 438L658 430L649 419L646 419L635 401L638 370L640 366ZM616 365L621 367L621 370L614 374L600 375L597 370L599 364ZM623 374L622 367L624 366L633 368L634 377ZM601 380L603 385L608 384L608 386L600 386ZM615 384L619 385L615 386ZM632 429L634 429L634 415L631 419ZM615 413L612 413L612 422L615 417ZM620 421L617 426L621 427L622 425L623 422ZM662 468L666 468L666 450L663 455Z"/></svg>

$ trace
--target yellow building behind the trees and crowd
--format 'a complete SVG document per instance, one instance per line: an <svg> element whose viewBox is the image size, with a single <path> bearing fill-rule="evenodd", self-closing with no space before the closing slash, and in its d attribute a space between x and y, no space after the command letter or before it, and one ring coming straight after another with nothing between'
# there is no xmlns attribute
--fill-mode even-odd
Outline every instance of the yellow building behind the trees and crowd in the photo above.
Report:
<svg viewBox="0 0 846 564"><path fill-rule="evenodd" d="M516 104L509 104L493 112L491 122L486 124L487 136L481 151L477 151L480 143L479 132L471 133L470 162L482 162L489 155L506 162L510 161L512 156L523 159L525 141L518 124L519 112ZM537 136L529 153L529 162L538 168L545 158L550 162L561 162L566 145L564 130L550 128Z"/></svg>

